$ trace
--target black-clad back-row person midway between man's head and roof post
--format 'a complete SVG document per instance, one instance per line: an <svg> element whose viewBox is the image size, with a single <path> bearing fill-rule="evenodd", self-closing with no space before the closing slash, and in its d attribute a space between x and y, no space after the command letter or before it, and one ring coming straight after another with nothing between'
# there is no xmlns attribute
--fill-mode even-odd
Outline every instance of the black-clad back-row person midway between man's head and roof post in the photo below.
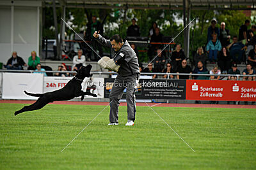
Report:
<svg viewBox="0 0 256 170"><path fill-rule="evenodd" d="M150 43L162 43L162 42L163 42L163 34L160 33L160 29L157 27L155 29L155 34L151 36ZM153 59L154 52L156 52L158 48L162 48L162 47L163 45L161 44L148 45L148 57L150 58L150 60Z"/></svg>

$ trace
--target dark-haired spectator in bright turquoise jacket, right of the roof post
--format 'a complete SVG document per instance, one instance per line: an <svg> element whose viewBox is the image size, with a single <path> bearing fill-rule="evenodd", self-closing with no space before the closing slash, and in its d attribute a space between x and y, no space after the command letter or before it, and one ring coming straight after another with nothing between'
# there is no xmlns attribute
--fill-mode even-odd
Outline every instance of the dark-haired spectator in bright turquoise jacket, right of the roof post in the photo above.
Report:
<svg viewBox="0 0 256 170"><path fill-rule="evenodd" d="M216 62L218 52L221 50L221 43L217 39L217 34L212 34L212 39L207 43L206 50L209 53L209 60Z"/></svg>

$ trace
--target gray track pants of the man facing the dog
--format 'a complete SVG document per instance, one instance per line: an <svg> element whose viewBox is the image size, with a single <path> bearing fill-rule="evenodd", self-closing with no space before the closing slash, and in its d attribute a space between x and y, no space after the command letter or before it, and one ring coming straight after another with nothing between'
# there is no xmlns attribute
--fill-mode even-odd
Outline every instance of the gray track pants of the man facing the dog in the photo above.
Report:
<svg viewBox="0 0 256 170"><path fill-rule="evenodd" d="M132 76L122 77L116 76L110 96L109 96L109 122L118 123L118 106L120 99L123 96L124 89L126 89L126 101L127 101L127 119L135 120L136 113L136 81L139 80L140 75L134 74Z"/></svg>

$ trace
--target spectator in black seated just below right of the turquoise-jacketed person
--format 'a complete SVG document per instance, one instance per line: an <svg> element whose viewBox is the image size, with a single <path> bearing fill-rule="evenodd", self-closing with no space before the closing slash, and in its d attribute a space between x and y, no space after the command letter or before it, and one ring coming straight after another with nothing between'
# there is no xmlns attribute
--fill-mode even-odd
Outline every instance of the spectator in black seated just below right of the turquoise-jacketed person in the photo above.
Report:
<svg viewBox="0 0 256 170"><path fill-rule="evenodd" d="M231 66L231 58L227 47L223 46L221 52L218 55L218 64L220 66L221 73L226 74Z"/></svg>

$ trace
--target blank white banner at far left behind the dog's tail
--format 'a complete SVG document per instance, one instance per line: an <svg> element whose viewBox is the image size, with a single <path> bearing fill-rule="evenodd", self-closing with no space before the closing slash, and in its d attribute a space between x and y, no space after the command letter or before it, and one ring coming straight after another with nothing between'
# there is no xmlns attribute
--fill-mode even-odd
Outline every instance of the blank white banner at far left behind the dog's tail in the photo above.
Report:
<svg viewBox="0 0 256 170"><path fill-rule="evenodd" d="M3 99L38 99L24 94L43 92L43 74L3 73Z"/></svg>

